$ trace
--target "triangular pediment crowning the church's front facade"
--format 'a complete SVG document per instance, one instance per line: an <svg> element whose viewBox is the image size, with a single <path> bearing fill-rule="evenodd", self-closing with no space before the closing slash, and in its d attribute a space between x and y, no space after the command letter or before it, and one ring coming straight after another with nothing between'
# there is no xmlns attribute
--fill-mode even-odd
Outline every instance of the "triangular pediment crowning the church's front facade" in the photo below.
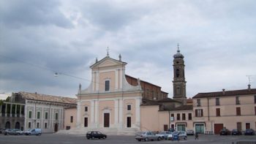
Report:
<svg viewBox="0 0 256 144"><path fill-rule="evenodd" d="M115 67L115 66L120 66L120 65L126 65L127 63L123 61L118 61L116 59L110 58L110 57L105 57L102 60L96 62L95 64L91 65L91 69L94 67L100 68L100 67Z"/></svg>

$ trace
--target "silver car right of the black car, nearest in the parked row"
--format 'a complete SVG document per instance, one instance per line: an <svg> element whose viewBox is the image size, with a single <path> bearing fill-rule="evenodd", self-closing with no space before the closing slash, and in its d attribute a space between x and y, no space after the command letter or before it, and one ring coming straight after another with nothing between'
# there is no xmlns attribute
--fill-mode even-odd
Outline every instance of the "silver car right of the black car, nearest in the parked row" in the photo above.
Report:
<svg viewBox="0 0 256 144"><path fill-rule="evenodd" d="M153 132L139 132L135 134L135 140L141 141L148 141L148 140L162 140L160 136L157 136Z"/></svg>

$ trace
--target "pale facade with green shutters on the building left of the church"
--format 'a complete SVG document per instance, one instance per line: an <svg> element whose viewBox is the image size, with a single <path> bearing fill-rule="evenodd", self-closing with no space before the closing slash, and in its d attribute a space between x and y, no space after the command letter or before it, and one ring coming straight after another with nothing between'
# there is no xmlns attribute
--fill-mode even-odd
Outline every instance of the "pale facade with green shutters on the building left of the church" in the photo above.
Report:
<svg viewBox="0 0 256 144"><path fill-rule="evenodd" d="M64 107L56 102L26 99L24 129L42 129L42 132L57 132L64 129Z"/></svg>

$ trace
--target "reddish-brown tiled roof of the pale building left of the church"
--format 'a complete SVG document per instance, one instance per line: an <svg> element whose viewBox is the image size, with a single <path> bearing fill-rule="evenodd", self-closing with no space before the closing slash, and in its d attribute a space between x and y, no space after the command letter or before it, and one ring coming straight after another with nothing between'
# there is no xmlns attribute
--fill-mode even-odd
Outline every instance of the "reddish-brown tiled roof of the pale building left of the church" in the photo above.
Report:
<svg viewBox="0 0 256 144"><path fill-rule="evenodd" d="M64 97L64 96L52 96L46 94L37 94L37 93L29 93L20 91L18 92L24 99L30 100L38 100L38 101L45 101L45 102L58 102L64 104L72 104L76 105L77 99L71 97Z"/></svg>

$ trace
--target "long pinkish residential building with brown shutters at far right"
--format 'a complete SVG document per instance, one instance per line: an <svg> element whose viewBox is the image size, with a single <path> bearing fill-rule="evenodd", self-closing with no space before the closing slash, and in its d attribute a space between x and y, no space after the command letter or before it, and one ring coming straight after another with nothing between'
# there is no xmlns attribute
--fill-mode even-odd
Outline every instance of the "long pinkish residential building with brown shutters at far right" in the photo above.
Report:
<svg viewBox="0 0 256 144"><path fill-rule="evenodd" d="M256 89L198 93L193 97L196 132L219 134L227 129L256 129Z"/></svg>

